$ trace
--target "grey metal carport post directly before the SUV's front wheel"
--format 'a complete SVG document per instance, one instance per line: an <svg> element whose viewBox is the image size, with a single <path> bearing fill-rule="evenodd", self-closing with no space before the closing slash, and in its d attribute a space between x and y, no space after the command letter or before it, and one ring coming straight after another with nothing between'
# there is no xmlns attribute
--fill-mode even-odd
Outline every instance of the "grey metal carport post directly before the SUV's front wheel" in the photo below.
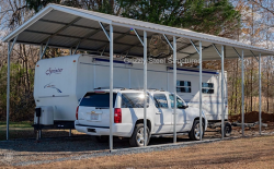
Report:
<svg viewBox="0 0 274 169"><path fill-rule="evenodd" d="M199 65L198 65L198 68L199 68L199 101L198 101L198 106L199 106L199 141L202 141L202 138L203 138L203 119L202 119L202 101L203 101L203 99L202 99L202 83L203 83L203 80L202 80L202 63L203 63L203 61L202 61L202 41L199 40Z"/></svg>

